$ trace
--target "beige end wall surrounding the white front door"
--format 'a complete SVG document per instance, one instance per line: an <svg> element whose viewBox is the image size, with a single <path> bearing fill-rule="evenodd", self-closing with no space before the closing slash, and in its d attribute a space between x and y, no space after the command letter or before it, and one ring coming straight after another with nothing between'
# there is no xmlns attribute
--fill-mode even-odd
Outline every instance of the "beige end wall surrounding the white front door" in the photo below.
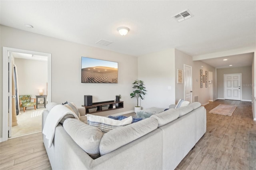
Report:
<svg viewBox="0 0 256 170"><path fill-rule="evenodd" d="M252 100L252 66L217 69L218 98L224 99L224 74L242 73L242 100Z"/></svg>

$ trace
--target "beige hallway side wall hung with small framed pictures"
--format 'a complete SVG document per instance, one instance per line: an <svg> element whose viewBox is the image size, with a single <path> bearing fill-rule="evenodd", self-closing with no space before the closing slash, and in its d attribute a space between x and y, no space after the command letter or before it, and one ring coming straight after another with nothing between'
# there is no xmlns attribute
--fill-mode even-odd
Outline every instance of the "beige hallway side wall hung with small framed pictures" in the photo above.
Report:
<svg viewBox="0 0 256 170"><path fill-rule="evenodd" d="M205 83L203 88L200 88L200 69L203 70L203 75L205 75L205 71L213 72L213 76L215 77L215 68L202 62L202 61L192 61L192 57L175 49L175 101L178 102L179 99L184 99L184 83L177 83L177 69L184 70L184 64L192 66L192 97L198 95L198 101L204 105L209 102L209 100L216 99L215 95L215 79L213 79L212 83L208 83L208 87L205 87ZM203 68L201 67L203 66ZM194 101L194 98L192 98Z"/></svg>

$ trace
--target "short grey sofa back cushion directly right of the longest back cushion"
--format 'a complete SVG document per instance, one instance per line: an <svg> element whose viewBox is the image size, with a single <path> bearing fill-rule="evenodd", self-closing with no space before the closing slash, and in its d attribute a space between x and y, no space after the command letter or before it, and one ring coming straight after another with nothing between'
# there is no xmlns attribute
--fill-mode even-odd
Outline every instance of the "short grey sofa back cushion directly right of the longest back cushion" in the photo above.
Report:
<svg viewBox="0 0 256 170"><path fill-rule="evenodd" d="M158 121L158 127L162 127L166 125L167 123L170 123L174 120L176 120L180 113L176 111L177 109L168 109L167 111L158 113L156 115L150 116L151 118L154 118Z"/></svg>

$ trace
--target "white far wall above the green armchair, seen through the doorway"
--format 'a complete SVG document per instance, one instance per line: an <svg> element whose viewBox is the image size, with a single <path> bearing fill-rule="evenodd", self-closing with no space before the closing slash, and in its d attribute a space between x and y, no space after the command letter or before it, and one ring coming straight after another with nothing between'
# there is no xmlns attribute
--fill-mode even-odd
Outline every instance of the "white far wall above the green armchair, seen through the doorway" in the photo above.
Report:
<svg viewBox="0 0 256 170"><path fill-rule="evenodd" d="M39 89L46 94L47 61L15 58L17 67L19 95L32 95L36 98Z"/></svg>

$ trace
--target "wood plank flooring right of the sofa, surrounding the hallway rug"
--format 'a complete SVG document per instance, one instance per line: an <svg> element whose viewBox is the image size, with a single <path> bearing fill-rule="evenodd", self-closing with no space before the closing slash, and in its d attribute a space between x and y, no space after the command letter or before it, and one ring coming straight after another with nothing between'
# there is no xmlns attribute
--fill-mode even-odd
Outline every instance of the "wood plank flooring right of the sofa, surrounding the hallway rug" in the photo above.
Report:
<svg viewBox="0 0 256 170"><path fill-rule="evenodd" d="M232 116L208 113L219 104L237 108ZM251 102L216 100L205 108L206 133L176 170L256 170L256 121Z"/></svg>

